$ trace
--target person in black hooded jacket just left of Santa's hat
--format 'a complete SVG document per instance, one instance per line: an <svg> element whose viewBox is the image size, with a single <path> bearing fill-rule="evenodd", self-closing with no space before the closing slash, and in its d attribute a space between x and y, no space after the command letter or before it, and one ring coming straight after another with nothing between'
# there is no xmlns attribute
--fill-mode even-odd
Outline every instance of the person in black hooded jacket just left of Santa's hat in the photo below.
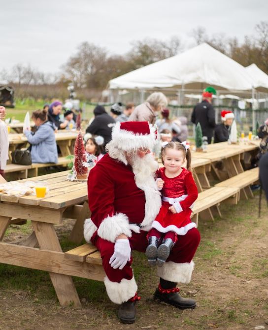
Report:
<svg viewBox="0 0 268 330"><path fill-rule="evenodd" d="M115 120L107 114L102 105L97 105L93 113L95 118L87 127L86 133L102 136L105 148L105 145L112 139L112 128L115 125Z"/></svg>

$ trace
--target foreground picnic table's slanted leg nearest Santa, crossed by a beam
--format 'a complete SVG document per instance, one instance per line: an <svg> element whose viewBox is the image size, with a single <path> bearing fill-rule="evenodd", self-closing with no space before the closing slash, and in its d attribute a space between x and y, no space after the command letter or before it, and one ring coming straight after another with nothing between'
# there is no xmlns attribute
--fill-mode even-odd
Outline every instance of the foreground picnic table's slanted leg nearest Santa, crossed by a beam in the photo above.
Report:
<svg viewBox="0 0 268 330"><path fill-rule="evenodd" d="M62 252L59 239L52 224L36 221L32 221L32 224L41 249ZM52 272L49 275L62 306L70 303L73 303L74 306L81 306L71 276Z"/></svg>

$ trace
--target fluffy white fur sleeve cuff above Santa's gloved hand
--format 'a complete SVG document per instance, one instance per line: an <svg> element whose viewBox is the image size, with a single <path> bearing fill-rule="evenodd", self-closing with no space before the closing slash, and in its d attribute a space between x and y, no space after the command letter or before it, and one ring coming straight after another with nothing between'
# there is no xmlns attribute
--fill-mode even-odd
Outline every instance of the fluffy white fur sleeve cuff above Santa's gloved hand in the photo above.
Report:
<svg viewBox="0 0 268 330"><path fill-rule="evenodd" d="M101 238L114 243L116 237L120 234L125 234L128 237L132 235L129 219L126 214L117 213L112 217L107 217L102 220L98 229L98 235Z"/></svg>

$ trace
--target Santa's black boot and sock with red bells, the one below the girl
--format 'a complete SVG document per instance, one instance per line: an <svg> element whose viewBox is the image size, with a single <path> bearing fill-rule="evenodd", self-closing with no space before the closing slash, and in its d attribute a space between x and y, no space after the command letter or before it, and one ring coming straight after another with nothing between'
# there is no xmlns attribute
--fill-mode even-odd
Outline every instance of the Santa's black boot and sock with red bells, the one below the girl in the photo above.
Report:
<svg viewBox="0 0 268 330"><path fill-rule="evenodd" d="M196 301L190 298L183 298L179 294L180 289L176 288L177 283L166 281L160 278L160 283L155 291L154 299L164 301L179 309L196 308Z"/></svg>

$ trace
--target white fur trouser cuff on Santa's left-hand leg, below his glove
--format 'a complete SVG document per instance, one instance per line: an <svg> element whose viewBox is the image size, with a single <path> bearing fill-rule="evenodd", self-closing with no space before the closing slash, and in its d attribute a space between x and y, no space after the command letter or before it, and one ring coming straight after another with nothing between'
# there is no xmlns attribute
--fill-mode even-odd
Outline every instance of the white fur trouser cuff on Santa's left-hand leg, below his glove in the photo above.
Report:
<svg viewBox="0 0 268 330"><path fill-rule="evenodd" d="M104 277L104 285L108 297L112 302L121 304L135 296L137 284L134 277L131 280L123 278L120 283L112 282L107 276Z"/></svg>

